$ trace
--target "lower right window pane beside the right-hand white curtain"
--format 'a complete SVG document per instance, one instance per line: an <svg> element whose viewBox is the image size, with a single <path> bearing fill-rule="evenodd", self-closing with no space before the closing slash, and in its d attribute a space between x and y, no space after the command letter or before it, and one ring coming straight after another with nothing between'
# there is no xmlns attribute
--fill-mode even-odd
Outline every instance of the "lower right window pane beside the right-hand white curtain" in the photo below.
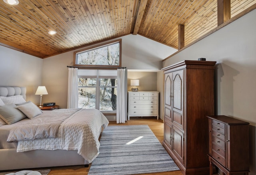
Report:
<svg viewBox="0 0 256 175"><path fill-rule="evenodd" d="M116 94L116 87L100 87L100 111L116 111Z"/></svg>

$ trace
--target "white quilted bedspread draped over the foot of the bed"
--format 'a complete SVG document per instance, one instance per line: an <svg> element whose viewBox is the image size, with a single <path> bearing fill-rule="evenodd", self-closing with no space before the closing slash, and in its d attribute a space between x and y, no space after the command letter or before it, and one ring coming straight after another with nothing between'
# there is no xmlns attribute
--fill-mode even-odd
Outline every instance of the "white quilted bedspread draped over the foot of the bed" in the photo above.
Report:
<svg viewBox="0 0 256 175"><path fill-rule="evenodd" d="M53 112L63 112L58 109ZM108 125L108 119L97 109L80 109L62 122L56 138L18 141L17 152L36 149L46 150L78 150L89 163L99 153L101 127Z"/></svg>

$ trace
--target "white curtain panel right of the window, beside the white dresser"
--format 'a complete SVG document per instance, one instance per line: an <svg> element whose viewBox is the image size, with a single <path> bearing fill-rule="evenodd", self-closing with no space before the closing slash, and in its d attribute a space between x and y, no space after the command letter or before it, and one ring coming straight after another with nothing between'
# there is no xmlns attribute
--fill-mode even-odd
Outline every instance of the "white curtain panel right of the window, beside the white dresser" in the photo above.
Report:
<svg viewBox="0 0 256 175"><path fill-rule="evenodd" d="M125 123L125 69L117 70L117 103L116 103L116 123Z"/></svg>

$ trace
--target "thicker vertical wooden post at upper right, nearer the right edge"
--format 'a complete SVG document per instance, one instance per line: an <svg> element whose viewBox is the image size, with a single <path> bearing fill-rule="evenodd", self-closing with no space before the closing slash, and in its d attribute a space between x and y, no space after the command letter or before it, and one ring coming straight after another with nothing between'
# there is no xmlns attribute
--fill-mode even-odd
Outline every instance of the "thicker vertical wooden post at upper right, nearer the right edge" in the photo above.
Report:
<svg viewBox="0 0 256 175"><path fill-rule="evenodd" d="M218 0L218 26L231 19L230 0Z"/></svg>

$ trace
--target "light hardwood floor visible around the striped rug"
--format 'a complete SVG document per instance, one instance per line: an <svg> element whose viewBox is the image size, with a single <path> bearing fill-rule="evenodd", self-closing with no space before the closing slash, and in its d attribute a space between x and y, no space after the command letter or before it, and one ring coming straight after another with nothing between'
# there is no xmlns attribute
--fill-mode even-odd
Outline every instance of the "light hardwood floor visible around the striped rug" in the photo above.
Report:
<svg viewBox="0 0 256 175"><path fill-rule="evenodd" d="M115 122L110 122L112 125L148 125L153 133L156 135L160 143L164 140L164 123L156 118L148 117L131 117L129 121L122 124L116 124ZM39 168L39 169L51 169L48 175L87 175L90 169L89 167L79 166L67 166L67 167L49 167L49 168ZM163 173L150 173L144 175L182 175L181 171L171 171Z"/></svg>

